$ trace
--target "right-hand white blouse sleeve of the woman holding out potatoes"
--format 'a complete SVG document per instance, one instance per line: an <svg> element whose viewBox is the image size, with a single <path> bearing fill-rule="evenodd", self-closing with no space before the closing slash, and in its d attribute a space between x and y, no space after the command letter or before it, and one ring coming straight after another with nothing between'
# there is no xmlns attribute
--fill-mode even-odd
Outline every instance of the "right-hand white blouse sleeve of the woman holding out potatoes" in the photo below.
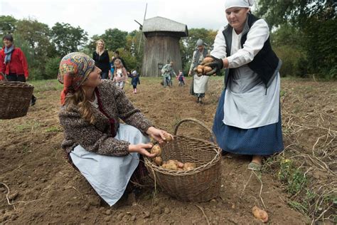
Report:
<svg viewBox="0 0 337 225"><path fill-rule="evenodd" d="M253 61L268 38L268 24L264 19L259 19L247 33L247 40L243 44L243 48L232 54L232 56L228 56L229 68L237 68Z"/></svg>

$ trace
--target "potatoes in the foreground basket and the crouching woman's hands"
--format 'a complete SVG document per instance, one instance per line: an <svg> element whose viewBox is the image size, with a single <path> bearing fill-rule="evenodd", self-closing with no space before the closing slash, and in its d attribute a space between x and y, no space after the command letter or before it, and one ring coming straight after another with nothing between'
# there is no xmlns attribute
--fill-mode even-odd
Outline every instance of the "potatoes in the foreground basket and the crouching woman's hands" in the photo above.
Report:
<svg viewBox="0 0 337 225"><path fill-rule="evenodd" d="M166 136L166 142L171 142L172 137L171 136ZM163 162L163 159L161 158L161 147L159 144L154 145L151 148L151 154L156 153L156 157L152 158L152 162L156 164L158 167L162 167L164 169L170 169L170 170L177 170L177 171L186 171L190 169L195 169L196 168L196 163L194 162L179 162L176 159L169 159L167 161Z"/></svg>

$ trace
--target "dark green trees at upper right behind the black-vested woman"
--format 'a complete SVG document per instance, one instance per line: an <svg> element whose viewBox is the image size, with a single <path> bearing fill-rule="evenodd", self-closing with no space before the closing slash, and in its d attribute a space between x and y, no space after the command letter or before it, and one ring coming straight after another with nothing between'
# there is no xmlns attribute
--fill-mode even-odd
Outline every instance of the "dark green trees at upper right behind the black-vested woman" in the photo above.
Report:
<svg viewBox="0 0 337 225"><path fill-rule="evenodd" d="M277 31L272 33L272 38L278 40L274 46L285 46L285 49L293 45L284 58L291 56L291 51L299 51L303 53L300 64L308 73L337 77L336 2L260 0L257 16L264 17L270 29ZM284 33L287 32L286 37ZM281 39L284 39L283 43ZM288 39L291 44L287 43Z"/></svg>

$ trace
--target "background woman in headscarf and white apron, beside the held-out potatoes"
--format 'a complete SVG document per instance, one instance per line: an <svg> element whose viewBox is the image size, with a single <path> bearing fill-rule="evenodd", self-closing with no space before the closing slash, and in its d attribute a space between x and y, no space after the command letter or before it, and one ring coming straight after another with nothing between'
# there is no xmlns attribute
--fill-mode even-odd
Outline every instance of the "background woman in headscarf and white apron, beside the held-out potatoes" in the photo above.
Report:
<svg viewBox="0 0 337 225"><path fill-rule="evenodd" d="M209 76L198 76L196 72L193 72L193 70L198 67L201 62L203 62L203 59L208 55L208 50L205 48L203 40L201 39L198 39L196 46L198 49L193 52L192 63L190 70L188 71L188 76L193 74L190 94L196 95L197 103L202 103L201 99L205 97Z"/></svg>

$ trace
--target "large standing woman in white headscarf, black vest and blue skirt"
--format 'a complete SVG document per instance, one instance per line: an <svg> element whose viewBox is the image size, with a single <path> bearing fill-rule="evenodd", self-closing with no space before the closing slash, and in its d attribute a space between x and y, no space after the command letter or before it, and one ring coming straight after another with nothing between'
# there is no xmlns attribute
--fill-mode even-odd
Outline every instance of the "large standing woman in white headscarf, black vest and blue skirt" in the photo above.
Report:
<svg viewBox="0 0 337 225"><path fill-rule="evenodd" d="M250 13L252 0L225 0L228 25L218 31L210 53L214 70L228 68L213 132L225 152L252 155L248 169L260 170L262 156L284 150L279 105L282 62L269 42L264 19ZM210 74L208 74L210 75Z"/></svg>

